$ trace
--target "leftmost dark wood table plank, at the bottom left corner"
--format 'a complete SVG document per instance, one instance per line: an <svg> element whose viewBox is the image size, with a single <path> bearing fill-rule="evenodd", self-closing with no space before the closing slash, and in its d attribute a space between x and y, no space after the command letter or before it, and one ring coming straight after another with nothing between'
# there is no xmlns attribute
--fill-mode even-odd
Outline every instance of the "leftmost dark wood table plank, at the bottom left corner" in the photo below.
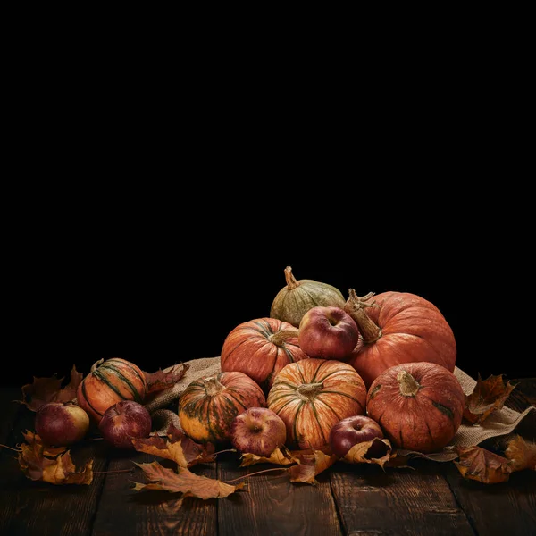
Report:
<svg viewBox="0 0 536 536"><path fill-rule="evenodd" d="M35 431L35 414L22 408L20 418L8 434L6 444L24 441L22 431ZM75 465L93 458L94 471L105 471L102 441L82 441L71 449ZM6 454L9 452L9 454ZM0 452L0 534L9 536L89 536L104 475L95 474L89 485L55 486L29 480L21 472L13 451Z"/></svg>

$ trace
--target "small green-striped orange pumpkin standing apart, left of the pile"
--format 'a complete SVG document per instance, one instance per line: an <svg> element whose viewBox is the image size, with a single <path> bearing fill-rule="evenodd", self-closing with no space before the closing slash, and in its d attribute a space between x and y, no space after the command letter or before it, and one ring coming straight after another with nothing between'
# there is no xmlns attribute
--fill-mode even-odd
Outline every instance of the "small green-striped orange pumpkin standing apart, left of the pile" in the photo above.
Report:
<svg viewBox="0 0 536 536"><path fill-rule="evenodd" d="M97 361L77 389L78 405L95 423L108 407L120 400L142 403L147 393L145 374L138 365L121 357Z"/></svg>

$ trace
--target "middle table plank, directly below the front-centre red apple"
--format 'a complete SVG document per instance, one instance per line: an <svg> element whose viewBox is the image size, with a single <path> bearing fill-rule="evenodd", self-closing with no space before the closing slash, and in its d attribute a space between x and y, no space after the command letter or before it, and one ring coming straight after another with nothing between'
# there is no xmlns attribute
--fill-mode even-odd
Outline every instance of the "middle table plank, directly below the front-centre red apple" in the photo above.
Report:
<svg viewBox="0 0 536 536"><path fill-rule="evenodd" d="M218 460L218 478L230 482L248 473L275 467L260 464L239 468L239 456L230 454ZM318 475L317 486L292 483L287 472L264 473L247 478L247 490L239 490L228 498L219 499L218 535L339 536L340 523L331 496L328 472L329 469Z"/></svg>

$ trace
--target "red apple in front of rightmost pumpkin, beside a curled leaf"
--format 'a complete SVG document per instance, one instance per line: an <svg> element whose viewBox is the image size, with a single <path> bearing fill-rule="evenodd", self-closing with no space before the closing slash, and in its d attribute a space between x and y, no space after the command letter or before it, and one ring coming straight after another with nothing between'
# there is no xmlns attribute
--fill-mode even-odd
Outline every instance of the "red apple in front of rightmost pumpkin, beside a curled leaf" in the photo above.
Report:
<svg viewBox="0 0 536 536"><path fill-rule="evenodd" d="M352 415L336 423L330 431L330 447L334 455L344 457L348 450L358 443L372 441L374 438L383 439L383 431L380 424L366 415ZM377 443L377 441L376 441ZM374 456L375 450L381 452L381 445L376 448L376 443L371 445L368 455Z"/></svg>

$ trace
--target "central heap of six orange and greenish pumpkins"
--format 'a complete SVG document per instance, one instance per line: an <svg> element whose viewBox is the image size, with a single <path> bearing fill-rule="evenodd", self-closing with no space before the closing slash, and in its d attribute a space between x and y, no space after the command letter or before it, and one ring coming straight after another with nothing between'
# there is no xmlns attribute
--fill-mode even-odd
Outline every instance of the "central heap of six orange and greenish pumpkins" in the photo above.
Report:
<svg viewBox="0 0 536 536"><path fill-rule="evenodd" d="M182 430L201 443L228 443L238 415L267 408L285 424L288 448L329 448L334 426L355 415L378 423L394 448L431 453L448 445L462 422L465 395L454 374L453 331L438 307L394 291L357 297L349 289L345 299L327 283L297 281L289 266L285 276L270 316L227 335L222 372L191 381L182 392L176 406ZM352 322L350 346L329 352L322 337L306 338L313 310ZM86 381L79 404L91 412Z"/></svg>

